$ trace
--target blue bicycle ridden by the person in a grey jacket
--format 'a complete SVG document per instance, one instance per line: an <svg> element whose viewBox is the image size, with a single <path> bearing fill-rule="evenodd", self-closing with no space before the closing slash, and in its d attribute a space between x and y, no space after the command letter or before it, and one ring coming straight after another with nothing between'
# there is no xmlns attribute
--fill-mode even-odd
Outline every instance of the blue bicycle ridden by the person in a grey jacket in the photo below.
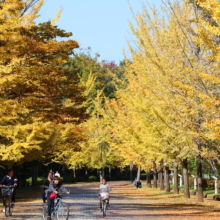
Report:
<svg viewBox="0 0 220 220"><path fill-rule="evenodd" d="M69 206L62 202L62 195L63 193L59 193L58 197L55 199L55 208L52 211L52 216L56 216L57 220L68 220L69 218ZM47 220L48 217L48 206L44 204L43 206L43 220Z"/></svg>

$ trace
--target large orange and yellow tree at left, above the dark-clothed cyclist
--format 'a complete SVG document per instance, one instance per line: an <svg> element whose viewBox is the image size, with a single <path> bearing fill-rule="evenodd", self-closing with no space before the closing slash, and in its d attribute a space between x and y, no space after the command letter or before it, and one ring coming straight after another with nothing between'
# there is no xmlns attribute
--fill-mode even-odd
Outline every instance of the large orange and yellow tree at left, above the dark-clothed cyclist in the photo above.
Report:
<svg viewBox="0 0 220 220"><path fill-rule="evenodd" d="M66 145L58 137L71 135L73 148L82 139L77 124L87 117L84 87L63 68L79 45L74 40L56 41L72 35L55 26L60 12L52 22L36 24L44 1L34 3L0 2L0 158L4 164L62 152Z"/></svg>

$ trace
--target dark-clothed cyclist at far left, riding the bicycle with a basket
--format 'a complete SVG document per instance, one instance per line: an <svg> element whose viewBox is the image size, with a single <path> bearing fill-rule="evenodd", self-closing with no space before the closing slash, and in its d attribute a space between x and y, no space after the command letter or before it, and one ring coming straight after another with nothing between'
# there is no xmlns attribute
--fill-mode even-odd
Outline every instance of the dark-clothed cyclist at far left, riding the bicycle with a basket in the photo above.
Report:
<svg viewBox="0 0 220 220"><path fill-rule="evenodd" d="M6 186L17 186L18 184L18 179L17 177L14 176L14 170L10 169L8 170L8 175L5 175L2 179L2 181L0 182L0 187L2 187L2 185L6 185ZM15 190L12 194L12 202L11 202L12 206L14 206L15 204ZM3 205L4 204L4 199L3 199ZM3 208L3 212L5 212L5 207Z"/></svg>

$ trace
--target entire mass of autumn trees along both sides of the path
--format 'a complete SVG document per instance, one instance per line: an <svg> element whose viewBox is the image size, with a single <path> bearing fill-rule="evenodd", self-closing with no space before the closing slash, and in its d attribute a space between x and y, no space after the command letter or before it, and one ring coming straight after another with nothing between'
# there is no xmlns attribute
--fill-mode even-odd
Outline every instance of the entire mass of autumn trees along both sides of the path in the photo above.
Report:
<svg viewBox="0 0 220 220"><path fill-rule="evenodd" d="M150 174L196 158L219 158L219 13L217 0L164 3L135 16L131 59L117 66L89 54L52 22L35 24L43 0L0 1L1 165L33 160L68 168L135 164ZM71 57L74 55L74 57ZM141 167L141 168L140 168ZM103 173L101 172L103 175ZM166 178L168 180L168 178ZM149 178L148 178L149 183ZM167 191L169 184L167 183ZM178 193L178 187L175 187Z"/></svg>

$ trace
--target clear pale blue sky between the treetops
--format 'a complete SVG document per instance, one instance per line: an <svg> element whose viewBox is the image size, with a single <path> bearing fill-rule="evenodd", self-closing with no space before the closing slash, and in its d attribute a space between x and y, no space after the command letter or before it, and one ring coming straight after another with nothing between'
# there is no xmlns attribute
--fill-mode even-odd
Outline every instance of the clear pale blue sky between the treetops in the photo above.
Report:
<svg viewBox="0 0 220 220"><path fill-rule="evenodd" d="M71 39L80 47L91 47L92 54L99 53L101 60L123 60L123 48L131 40L128 20L133 20L133 11L141 12L144 0L45 0L37 22L52 20L59 9L63 12L57 22L59 28L72 32ZM149 0L158 8L160 0Z"/></svg>

